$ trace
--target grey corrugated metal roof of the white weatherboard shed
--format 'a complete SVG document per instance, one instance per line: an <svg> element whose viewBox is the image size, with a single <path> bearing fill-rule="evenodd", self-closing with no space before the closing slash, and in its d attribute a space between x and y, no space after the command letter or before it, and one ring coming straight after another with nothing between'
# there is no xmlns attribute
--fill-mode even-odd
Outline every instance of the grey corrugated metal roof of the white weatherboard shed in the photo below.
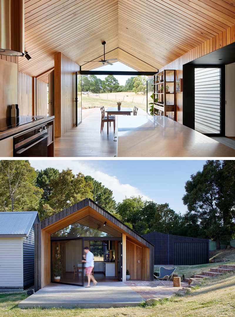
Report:
<svg viewBox="0 0 235 317"><path fill-rule="evenodd" d="M37 211L0 212L0 236L28 236L34 223L38 222Z"/></svg>

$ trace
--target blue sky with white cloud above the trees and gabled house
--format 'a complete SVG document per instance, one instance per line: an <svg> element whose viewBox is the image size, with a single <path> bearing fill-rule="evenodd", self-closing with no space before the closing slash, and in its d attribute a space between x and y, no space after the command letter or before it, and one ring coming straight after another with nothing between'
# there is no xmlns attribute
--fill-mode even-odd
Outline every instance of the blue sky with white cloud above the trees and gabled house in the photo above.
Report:
<svg viewBox="0 0 235 317"><path fill-rule="evenodd" d="M74 174L90 175L113 191L116 202L125 196L138 196L158 204L168 203L177 213L184 214L184 185L190 175L202 170L205 160L29 160L31 166L70 168Z"/></svg>

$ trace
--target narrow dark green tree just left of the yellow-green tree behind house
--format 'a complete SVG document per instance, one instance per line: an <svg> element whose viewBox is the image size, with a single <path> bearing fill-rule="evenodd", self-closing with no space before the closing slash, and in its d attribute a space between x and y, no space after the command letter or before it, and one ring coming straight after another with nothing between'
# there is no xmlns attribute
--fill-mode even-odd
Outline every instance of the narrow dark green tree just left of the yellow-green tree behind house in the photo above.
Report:
<svg viewBox="0 0 235 317"><path fill-rule="evenodd" d="M45 170L40 170L37 177L37 186L43 189L43 200L49 201L49 196L53 192L53 187L50 186L53 178L59 177L59 170L53 167L47 167Z"/></svg>

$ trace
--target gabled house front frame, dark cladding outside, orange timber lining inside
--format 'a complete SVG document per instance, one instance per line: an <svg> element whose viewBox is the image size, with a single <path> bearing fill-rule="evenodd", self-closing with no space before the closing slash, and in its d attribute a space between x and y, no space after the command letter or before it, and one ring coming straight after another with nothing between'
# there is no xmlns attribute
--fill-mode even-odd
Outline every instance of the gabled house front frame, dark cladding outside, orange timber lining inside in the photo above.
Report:
<svg viewBox="0 0 235 317"><path fill-rule="evenodd" d="M126 277L126 265L133 262L132 254L136 256L136 248L141 249L141 279L153 280L154 269L154 246L144 237L127 227L119 219L108 211L102 209L91 199L82 201L58 212L57 214L41 221L34 226L35 229L35 266L34 266L34 288L35 291L51 282L51 234L62 228L79 221L86 215L92 215L98 221L107 221L107 225L122 234L122 271ZM139 260L139 258L137 259ZM125 272L124 272L125 271ZM133 276L137 276L133 272ZM125 281L125 279L123 279Z"/></svg>

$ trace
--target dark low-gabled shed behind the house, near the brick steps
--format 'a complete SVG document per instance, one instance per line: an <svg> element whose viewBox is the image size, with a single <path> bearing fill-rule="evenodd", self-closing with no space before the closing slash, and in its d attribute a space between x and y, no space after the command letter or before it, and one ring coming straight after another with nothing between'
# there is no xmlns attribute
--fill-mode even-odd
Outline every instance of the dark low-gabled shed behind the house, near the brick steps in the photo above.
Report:
<svg viewBox="0 0 235 317"><path fill-rule="evenodd" d="M143 235L154 245L154 265L209 263L209 240L167 235L153 231Z"/></svg>

